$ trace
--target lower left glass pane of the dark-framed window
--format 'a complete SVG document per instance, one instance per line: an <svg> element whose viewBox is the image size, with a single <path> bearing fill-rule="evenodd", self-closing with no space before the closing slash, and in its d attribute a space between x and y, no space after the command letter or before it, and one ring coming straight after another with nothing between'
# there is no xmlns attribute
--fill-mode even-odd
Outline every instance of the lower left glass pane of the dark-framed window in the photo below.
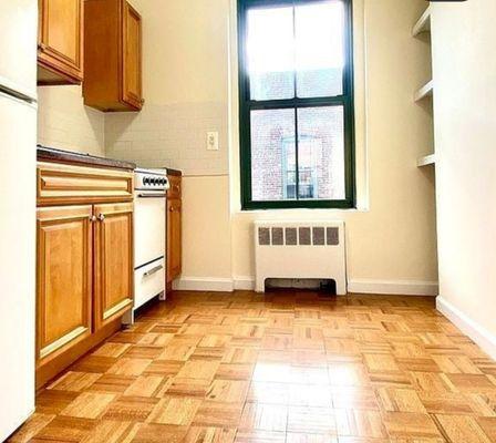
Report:
<svg viewBox="0 0 496 443"><path fill-rule="evenodd" d="M251 111L251 196L296 199L294 110Z"/></svg>

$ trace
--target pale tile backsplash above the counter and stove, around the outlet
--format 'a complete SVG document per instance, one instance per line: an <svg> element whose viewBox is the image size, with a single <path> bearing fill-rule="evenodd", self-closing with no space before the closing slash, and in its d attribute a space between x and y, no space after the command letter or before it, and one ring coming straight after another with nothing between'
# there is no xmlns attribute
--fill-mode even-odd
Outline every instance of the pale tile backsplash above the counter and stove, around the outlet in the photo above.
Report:
<svg viewBox="0 0 496 443"><path fill-rule="evenodd" d="M102 113L83 105L81 86L39 87L38 143L173 167L185 175L228 173L227 104L145 104L140 113ZM207 132L219 151L207 151Z"/></svg>

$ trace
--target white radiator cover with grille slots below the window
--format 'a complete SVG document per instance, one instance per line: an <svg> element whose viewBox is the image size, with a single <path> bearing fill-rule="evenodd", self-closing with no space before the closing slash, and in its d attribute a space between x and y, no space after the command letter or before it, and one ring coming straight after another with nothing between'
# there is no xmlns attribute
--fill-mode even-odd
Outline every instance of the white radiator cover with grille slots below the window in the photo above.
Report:
<svg viewBox="0 0 496 443"><path fill-rule="evenodd" d="M343 222L255 222L256 291L268 278L333 279L347 293Z"/></svg>

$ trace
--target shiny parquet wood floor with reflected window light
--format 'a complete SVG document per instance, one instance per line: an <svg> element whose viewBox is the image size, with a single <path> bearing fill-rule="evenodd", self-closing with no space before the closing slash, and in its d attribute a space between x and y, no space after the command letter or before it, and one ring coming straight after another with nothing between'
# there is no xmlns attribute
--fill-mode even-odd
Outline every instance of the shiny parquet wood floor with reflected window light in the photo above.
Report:
<svg viewBox="0 0 496 443"><path fill-rule="evenodd" d="M496 442L496 363L416 297L175 292L38 395L18 442Z"/></svg>

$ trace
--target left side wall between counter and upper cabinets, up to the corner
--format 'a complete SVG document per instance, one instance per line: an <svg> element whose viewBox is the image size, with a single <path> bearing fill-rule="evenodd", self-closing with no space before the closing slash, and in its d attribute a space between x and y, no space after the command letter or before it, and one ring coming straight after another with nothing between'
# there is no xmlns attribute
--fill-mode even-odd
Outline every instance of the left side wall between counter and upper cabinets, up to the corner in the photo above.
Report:
<svg viewBox="0 0 496 443"><path fill-rule="evenodd" d="M38 87L38 143L104 155L104 114L83 105L81 86Z"/></svg>

